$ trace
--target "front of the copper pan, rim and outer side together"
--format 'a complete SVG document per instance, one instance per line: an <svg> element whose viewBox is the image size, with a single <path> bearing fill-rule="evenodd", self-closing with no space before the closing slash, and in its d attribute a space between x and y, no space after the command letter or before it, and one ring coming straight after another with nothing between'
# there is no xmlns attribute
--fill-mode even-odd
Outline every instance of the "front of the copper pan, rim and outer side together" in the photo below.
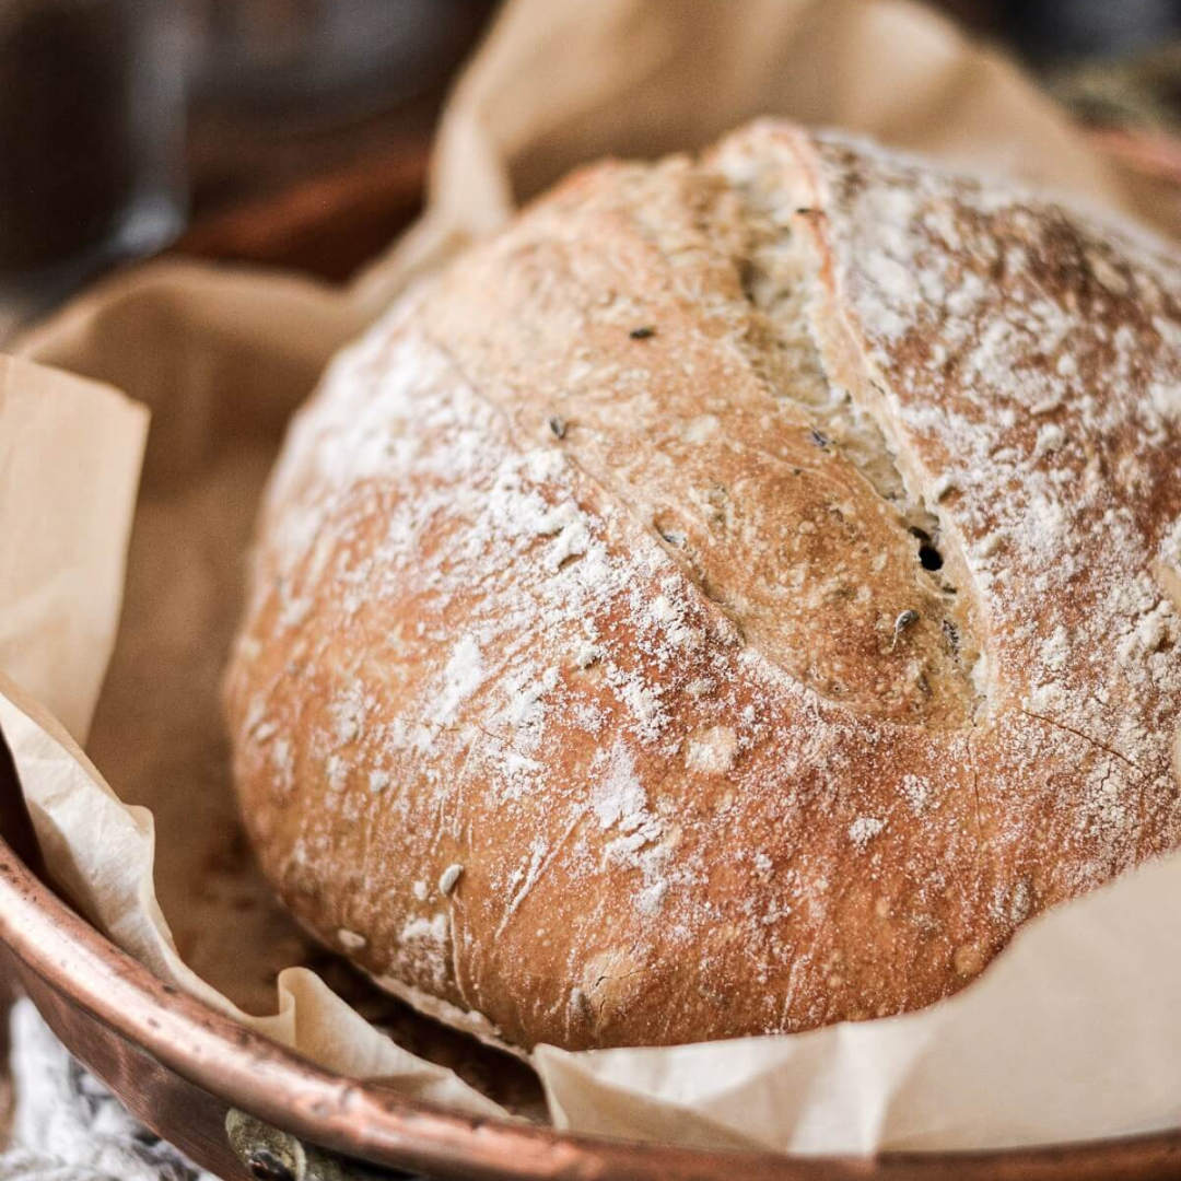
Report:
<svg viewBox="0 0 1181 1181"><path fill-rule="evenodd" d="M792 1159L596 1140L455 1115L313 1065L157 979L100 935L39 875L2 740L0 834L5 974L148 1128L227 1181L360 1181L405 1170L457 1181L1181 1177L1181 1130L1069 1148Z"/></svg>

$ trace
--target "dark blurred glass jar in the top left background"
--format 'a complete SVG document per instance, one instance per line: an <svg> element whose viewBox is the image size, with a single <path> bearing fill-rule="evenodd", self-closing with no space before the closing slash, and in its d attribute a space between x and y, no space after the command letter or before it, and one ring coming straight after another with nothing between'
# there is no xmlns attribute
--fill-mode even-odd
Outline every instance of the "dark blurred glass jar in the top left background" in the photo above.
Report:
<svg viewBox="0 0 1181 1181"><path fill-rule="evenodd" d="M176 231L184 65L170 0L0 0L0 273L83 269Z"/></svg>

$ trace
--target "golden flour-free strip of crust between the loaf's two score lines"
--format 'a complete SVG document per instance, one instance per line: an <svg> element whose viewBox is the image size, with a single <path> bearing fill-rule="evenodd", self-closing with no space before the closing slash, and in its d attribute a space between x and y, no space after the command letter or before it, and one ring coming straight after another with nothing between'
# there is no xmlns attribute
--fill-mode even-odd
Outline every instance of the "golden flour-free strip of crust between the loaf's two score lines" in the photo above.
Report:
<svg viewBox="0 0 1181 1181"><path fill-rule="evenodd" d="M850 405L827 374L808 322L818 263L807 241L709 167L619 167L603 180L626 201L596 210L613 254L575 254L563 203L542 207L531 231L430 301L433 337L462 372L496 376L481 396L518 437L544 438L541 425L560 418L561 437L544 441L810 690L896 723L966 726L980 704L971 580L958 572L957 594L947 573L924 569L915 530L938 533L938 520L907 492L874 409ZM655 327L637 338L624 286L645 269L666 282L645 291ZM527 350L464 331L494 283ZM586 307L598 314L574 341L529 332ZM899 644L908 612L918 626Z"/></svg>

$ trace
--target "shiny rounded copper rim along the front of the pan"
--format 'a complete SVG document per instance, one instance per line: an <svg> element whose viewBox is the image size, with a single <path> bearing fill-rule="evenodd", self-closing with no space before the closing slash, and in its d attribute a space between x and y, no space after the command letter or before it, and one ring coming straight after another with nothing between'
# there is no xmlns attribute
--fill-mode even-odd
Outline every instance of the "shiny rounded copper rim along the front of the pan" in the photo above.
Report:
<svg viewBox="0 0 1181 1181"><path fill-rule="evenodd" d="M0 939L25 967L182 1078L317 1144L466 1177L837 1181L1181 1175L1181 1131L1070 1148L789 1159L568 1136L455 1115L329 1074L157 979L79 918L0 840Z"/></svg>

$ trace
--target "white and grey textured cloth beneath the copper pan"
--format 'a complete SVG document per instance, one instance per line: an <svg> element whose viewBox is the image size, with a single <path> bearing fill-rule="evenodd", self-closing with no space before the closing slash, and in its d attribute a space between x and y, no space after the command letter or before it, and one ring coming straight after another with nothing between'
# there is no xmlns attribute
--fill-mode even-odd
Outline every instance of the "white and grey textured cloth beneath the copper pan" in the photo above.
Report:
<svg viewBox="0 0 1181 1181"><path fill-rule="evenodd" d="M17 1111L0 1181L216 1181L137 1123L32 1001L13 1006L11 1032Z"/></svg>

